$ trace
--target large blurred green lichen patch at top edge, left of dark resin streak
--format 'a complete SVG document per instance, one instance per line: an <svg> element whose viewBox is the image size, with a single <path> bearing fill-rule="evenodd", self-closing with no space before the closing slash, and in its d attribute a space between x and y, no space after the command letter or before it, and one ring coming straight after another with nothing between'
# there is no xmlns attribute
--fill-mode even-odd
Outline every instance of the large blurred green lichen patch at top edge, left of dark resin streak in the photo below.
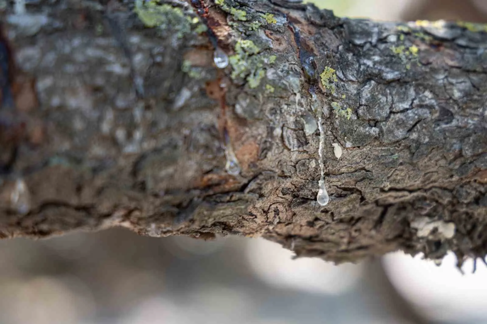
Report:
<svg viewBox="0 0 487 324"><path fill-rule="evenodd" d="M206 31L206 25L201 23L198 17L191 18L181 8L161 3L159 0L136 0L134 12L146 27L171 29L178 38L190 33L193 26L195 33Z"/></svg>

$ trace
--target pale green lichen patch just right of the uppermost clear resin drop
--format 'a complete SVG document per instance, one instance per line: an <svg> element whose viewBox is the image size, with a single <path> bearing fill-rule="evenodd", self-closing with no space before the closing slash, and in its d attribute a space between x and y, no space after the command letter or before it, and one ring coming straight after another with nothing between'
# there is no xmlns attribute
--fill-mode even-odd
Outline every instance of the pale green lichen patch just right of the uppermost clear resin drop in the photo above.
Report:
<svg viewBox="0 0 487 324"><path fill-rule="evenodd" d="M275 55L267 56L250 39L240 39L235 44L235 54L229 57L232 66L231 78L243 78L249 88L255 89L265 76L265 67L275 62Z"/></svg>

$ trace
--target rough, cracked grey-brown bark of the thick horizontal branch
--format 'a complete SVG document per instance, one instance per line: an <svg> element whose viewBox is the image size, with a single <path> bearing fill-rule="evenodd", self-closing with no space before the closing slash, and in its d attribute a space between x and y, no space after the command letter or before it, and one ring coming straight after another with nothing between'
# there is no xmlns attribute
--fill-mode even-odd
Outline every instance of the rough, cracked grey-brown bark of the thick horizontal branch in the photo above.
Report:
<svg viewBox="0 0 487 324"><path fill-rule="evenodd" d="M2 10L1 237L124 226L335 262L486 255L484 25L280 0Z"/></svg>

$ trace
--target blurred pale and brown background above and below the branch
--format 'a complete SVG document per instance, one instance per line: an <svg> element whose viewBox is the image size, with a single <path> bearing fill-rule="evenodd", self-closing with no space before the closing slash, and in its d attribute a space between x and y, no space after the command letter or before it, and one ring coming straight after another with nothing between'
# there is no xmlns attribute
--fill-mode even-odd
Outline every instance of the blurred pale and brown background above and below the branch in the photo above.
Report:
<svg viewBox="0 0 487 324"><path fill-rule="evenodd" d="M317 0L337 15L487 21L486 0ZM484 324L472 275L402 253L335 266L263 239L123 229L0 241L2 324Z"/></svg>

